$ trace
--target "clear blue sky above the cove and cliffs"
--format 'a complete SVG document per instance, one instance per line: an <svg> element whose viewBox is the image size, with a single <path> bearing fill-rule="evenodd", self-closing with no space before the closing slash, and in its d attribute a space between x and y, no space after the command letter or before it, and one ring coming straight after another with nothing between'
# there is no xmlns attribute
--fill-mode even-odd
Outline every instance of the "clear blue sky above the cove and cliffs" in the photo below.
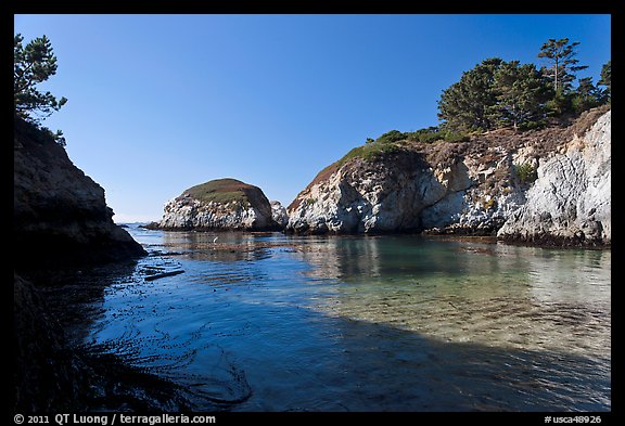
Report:
<svg viewBox="0 0 625 426"><path fill-rule="evenodd" d="M47 35L67 104L43 124L106 191L117 222L157 220L231 177L283 205L367 138L438 124L441 93L487 57L540 65L579 41L599 79L610 15L15 15Z"/></svg>

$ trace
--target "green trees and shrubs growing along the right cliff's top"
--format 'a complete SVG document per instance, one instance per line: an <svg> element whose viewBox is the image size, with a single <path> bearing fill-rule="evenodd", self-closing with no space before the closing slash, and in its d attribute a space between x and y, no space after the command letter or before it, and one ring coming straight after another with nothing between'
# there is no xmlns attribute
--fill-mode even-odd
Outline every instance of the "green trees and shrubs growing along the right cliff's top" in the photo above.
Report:
<svg viewBox="0 0 625 426"><path fill-rule="evenodd" d="M353 158L374 160L407 145L479 141L481 134L490 131L510 129L520 134L571 125L583 113L611 101L611 61L603 65L597 85L589 77L577 80L575 73L586 68L575 59L578 44L567 38L549 39L537 55L546 63L540 68L499 57L484 60L443 91L438 101L441 125L368 138L319 175L328 175Z"/></svg>

